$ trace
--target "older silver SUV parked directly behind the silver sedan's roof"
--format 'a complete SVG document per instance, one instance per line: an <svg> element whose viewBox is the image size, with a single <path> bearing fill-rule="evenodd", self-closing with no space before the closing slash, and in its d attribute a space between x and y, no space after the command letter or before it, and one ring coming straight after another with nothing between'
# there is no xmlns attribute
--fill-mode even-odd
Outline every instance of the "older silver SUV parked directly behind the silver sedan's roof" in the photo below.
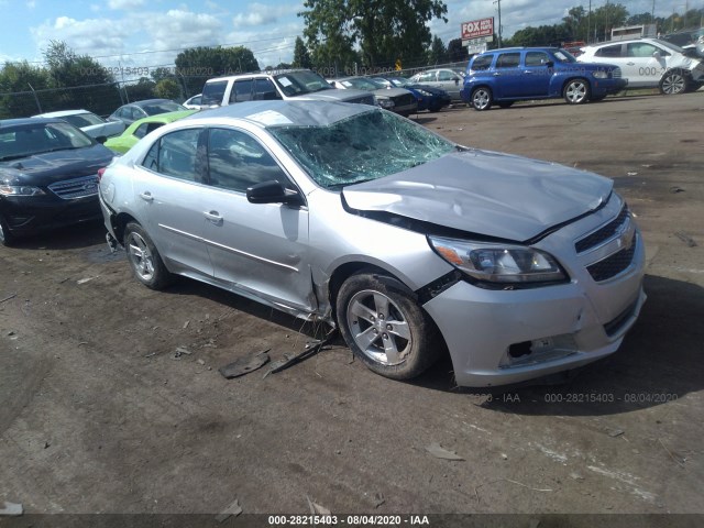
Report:
<svg viewBox="0 0 704 528"><path fill-rule="evenodd" d="M208 79L201 103L226 106L233 102L273 99L345 101L375 105L374 96L361 90L334 89L320 75L309 69L284 73L231 75Z"/></svg>

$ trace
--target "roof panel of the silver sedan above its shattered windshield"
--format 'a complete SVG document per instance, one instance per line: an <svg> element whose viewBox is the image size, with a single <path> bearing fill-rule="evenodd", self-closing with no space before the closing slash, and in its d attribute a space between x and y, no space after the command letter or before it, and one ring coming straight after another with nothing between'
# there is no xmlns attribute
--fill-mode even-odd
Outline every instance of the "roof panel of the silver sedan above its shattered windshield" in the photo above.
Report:
<svg viewBox="0 0 704 528"><path fill-rule="evenodd" d="M352 102L272 100L244 101L237 105L204 110L185 121L224 122L245 120L262 128L296 124L301 127L327 127L360 113L381 111L378 107Z"/></svg>

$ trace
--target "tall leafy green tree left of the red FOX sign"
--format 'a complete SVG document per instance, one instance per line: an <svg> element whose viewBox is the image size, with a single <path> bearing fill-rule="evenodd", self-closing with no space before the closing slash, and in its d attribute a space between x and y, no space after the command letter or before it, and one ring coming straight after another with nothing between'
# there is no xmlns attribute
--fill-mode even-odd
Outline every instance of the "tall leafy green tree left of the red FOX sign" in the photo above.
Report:
<svg viewBox="0 0 704 528"><path fill-rule="evenodd" d="M448 20L442 0L305 0L298 13L306 22L304 35L314 63L341 62L351 68L361 58L369 68L425 62L431 43L428 22ZM355 48L360 57L355 57Z"/></svg>

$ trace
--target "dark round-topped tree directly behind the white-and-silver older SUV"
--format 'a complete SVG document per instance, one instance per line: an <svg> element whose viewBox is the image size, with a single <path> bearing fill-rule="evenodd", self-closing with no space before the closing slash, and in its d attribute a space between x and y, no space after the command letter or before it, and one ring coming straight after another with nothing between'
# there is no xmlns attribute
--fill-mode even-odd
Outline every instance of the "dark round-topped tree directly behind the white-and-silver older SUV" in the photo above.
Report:
<svg viewBox="0 0 704 528"><path fill-rule="evenodd" d="M258 69L254 54L244 46L191 47L176 56L176 75L183 79L187 96L202 91L211 77Z"/></svg>

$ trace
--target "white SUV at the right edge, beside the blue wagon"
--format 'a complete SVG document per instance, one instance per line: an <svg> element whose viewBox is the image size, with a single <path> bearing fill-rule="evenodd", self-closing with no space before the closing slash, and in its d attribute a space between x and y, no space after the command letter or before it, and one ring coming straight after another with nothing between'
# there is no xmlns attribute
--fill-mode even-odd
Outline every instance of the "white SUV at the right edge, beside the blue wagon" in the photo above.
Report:
<svg viewBox="0 0 704 528"><path fill-rule="evenodd" d="M636 38L586 46L578 61L607 61L618 66L628 88L659 88L663 95L697 90L704 84L704 62L695 50L684 51L658 38Z"/></svg>

